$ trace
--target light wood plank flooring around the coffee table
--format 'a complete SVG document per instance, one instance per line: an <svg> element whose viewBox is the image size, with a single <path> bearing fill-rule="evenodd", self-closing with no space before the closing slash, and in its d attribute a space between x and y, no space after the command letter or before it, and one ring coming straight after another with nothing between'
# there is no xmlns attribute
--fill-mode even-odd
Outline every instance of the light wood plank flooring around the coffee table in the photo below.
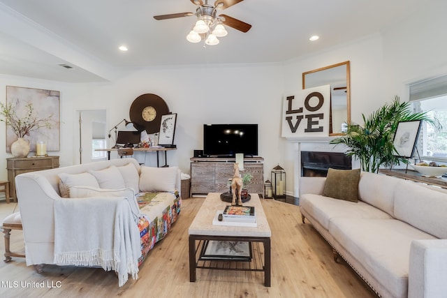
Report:
<svg viewBox="0 0 447 298"><path fill-rule="evenodd" d="M115 273L103 269L47 265L37 274L13 258L0 261L0 297L376 297L349 265L334 262L325 240L301 223L298 206L275 200L262 200L272 230L270 288L262 272L197 269L197 281L190 283L188 228L203 200L183 200L177 222L149 253L138 280L122 288ZM1 221L15 205L0 203ZM11 242L15 250L23 247L21 231L12 232ZM3 239L0 251L3 260Z"/></svg>

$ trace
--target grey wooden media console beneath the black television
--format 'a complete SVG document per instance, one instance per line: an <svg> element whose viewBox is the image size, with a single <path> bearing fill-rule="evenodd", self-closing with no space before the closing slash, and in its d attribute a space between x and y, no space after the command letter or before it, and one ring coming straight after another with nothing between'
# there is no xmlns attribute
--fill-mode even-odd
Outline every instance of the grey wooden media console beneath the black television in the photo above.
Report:
<svg viewBox="0 0 447 298"><path fill-rule="evenodd" d="M235 158L193 157L190 161L191 196L229 191L228 179L233 178L235 174ZM249 193L264 196L264 158L244 158L244 170L240 171L240 174L243 177L247 173L253 176L247 186Z"/></svg>

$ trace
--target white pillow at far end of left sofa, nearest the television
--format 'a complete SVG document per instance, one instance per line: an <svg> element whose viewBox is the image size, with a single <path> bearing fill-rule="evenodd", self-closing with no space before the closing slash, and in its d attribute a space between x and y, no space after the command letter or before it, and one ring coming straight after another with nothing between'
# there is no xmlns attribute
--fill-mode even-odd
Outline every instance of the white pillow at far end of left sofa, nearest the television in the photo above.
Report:
<svg viewBox="0 0 447 298"><path fill-rule="evenodd" d="M140 191L175 191L178 167L141 167Z"/></svg>

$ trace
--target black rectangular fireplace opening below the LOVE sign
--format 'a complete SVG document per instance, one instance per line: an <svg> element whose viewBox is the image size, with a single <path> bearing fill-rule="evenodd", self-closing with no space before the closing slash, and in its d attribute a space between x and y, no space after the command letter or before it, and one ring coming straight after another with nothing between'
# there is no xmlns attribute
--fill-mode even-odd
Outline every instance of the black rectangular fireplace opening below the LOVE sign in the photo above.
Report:
<svg viewBox="0 0 447 298"><path fill-rule="evenodd" d="M301 177L326 177L330 167L351 170L352 158L340 152L301 151Z"/></svg>

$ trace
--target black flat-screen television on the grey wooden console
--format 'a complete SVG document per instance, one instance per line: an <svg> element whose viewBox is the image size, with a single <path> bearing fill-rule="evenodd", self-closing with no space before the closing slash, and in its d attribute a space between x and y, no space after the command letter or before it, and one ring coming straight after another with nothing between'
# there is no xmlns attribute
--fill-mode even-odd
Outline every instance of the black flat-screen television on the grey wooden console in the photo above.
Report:
<svg viewBox="0 0 447 298"><path fill-rule="evenodd" d="M258 124L203 124L205 156L258 155Z"/></svg>

